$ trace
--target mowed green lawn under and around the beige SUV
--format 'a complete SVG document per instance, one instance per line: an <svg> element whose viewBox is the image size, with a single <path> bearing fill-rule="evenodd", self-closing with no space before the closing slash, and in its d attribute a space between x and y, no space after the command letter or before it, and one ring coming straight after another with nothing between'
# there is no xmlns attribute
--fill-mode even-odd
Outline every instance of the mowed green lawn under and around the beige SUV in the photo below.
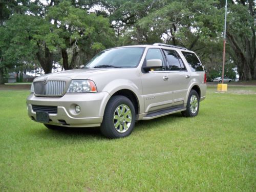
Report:
<svg viewBox="0 0 256 192"><path fill-rule="evenodd" d="M48 130L27 116L29 91L2 90L0 191L255 191L256 87L216 90L197 117L139 121L116 140Z"/></svg>

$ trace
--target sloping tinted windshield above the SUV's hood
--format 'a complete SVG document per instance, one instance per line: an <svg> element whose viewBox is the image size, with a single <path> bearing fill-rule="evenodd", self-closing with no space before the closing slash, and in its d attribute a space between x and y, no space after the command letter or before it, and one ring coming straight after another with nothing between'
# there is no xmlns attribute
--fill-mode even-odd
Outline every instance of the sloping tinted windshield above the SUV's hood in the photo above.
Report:
<svg viewBox="0 0 256 192"><path fill-rule="evenodd" d="M105 50L95 55L86 68L134 68L141 59L144 48L124 47Z"/></svg>

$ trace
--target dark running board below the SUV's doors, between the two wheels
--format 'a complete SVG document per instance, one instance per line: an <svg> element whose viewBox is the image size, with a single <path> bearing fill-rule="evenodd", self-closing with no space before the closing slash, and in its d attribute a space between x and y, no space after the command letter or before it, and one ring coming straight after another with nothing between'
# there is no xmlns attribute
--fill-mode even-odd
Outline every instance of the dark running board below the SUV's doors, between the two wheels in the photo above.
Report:
<svg viewBox="0 0 256 192"><path fill-rule="evenodd" d="M182 111L185 111L185 110L186 110L186 108L184 106L175 106L175 107L172 107L172 108L147 113L146 116L143 117L142 120L154 119L154 118L157 118L157 117L162 117L162 116L177 113L177 112L182 112Z"/></svg>

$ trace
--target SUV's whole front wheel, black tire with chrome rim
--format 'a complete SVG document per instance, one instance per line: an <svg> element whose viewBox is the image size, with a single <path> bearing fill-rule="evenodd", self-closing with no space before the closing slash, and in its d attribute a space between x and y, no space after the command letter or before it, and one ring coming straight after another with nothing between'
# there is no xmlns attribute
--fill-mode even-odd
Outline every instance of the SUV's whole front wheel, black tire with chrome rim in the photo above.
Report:
<svg viewBox="0 0 256 192"><path fill-rule="evenodd" d="M135 119L132 101L124 96L113 96L106 104L100 131L110 139L129 136L134 129Z"/></svg>

